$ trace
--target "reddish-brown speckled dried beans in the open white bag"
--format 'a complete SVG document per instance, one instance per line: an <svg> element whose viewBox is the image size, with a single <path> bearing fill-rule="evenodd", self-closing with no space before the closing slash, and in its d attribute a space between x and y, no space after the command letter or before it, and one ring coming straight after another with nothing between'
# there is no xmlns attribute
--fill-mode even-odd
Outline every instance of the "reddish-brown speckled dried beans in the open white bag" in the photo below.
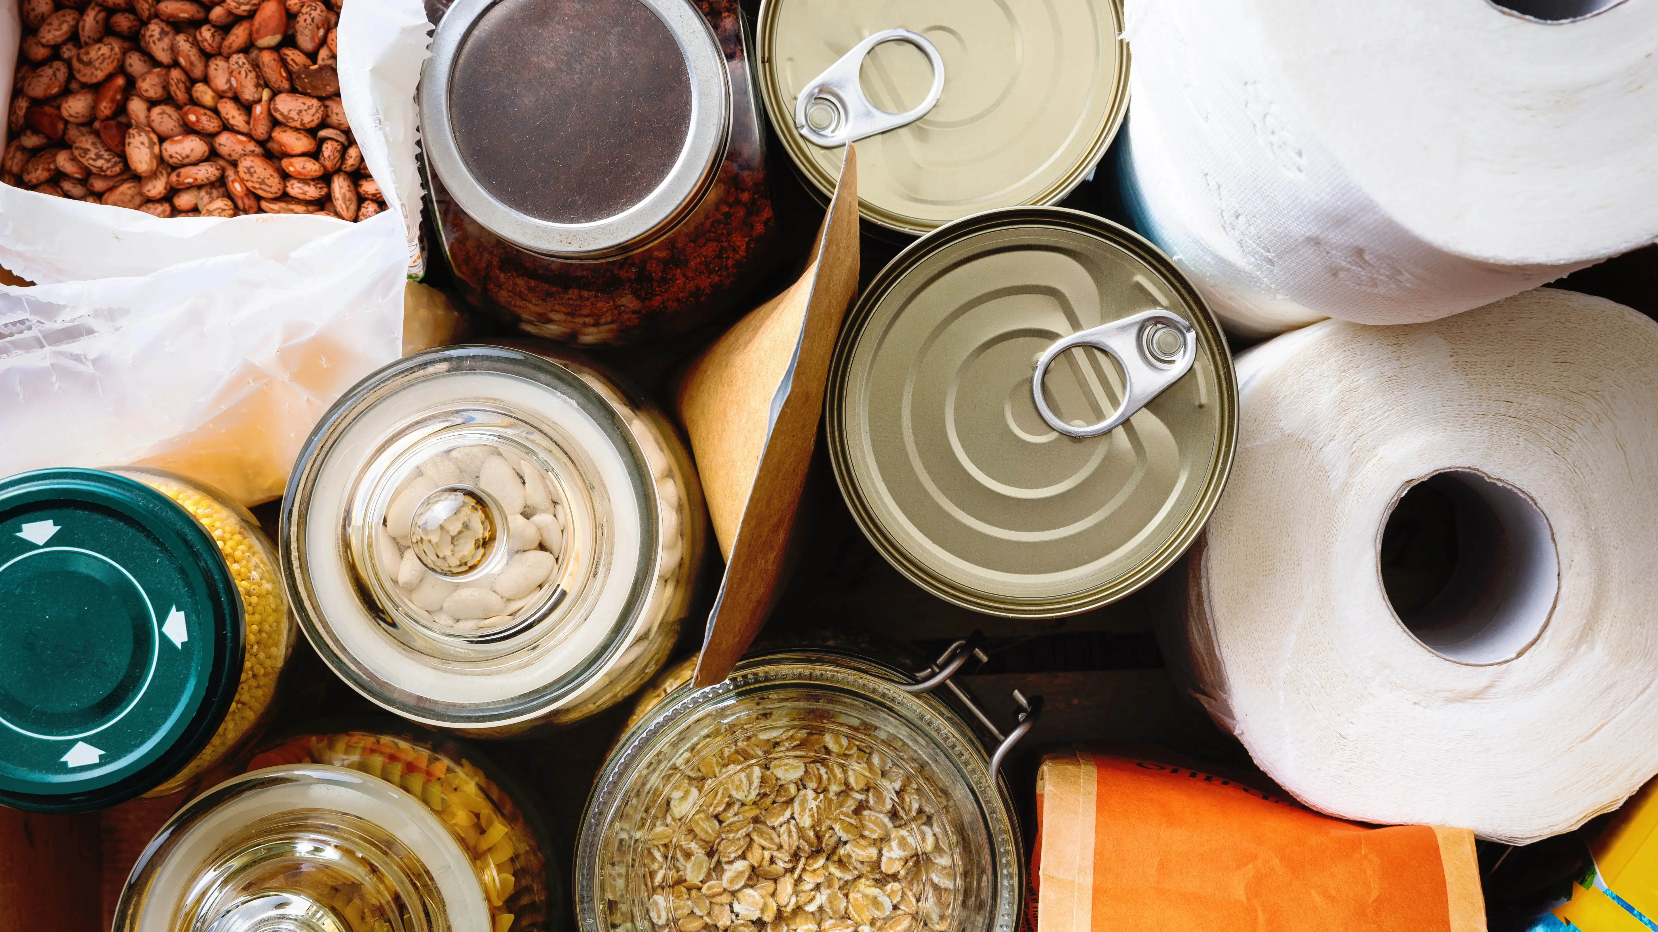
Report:
<svg viewBox="0 0 1658 932"><path fill-rule="evenodd" d="M0 181L158 217L378 214L328 2L22 0Z"/></svg>

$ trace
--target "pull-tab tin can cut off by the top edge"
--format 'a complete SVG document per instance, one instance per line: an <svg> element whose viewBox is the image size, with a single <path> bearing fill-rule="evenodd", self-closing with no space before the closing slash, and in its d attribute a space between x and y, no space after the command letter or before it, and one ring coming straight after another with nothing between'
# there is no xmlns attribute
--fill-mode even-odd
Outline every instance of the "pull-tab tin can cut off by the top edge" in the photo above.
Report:
<svg viewBox="0 0 1658 932"><path fill-rule="evenodd" d="M759 88L824 199L859 144L864 219L920 235L995 207L1054 204L1127 111L1119 0L764 0Z"/></svg>

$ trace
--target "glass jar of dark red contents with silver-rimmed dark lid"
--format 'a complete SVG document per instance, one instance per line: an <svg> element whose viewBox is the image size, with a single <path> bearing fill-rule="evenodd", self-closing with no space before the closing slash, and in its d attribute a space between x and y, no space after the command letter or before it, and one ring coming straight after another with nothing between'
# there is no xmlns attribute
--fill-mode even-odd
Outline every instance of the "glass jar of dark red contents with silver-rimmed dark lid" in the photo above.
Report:
<svg viewBox="0 0 1658 932"><path fill-rule="evenodd" d="M738 0L459 0L421 143L461 294L527 333L678 333L764 277L764 129Z"/></svg>

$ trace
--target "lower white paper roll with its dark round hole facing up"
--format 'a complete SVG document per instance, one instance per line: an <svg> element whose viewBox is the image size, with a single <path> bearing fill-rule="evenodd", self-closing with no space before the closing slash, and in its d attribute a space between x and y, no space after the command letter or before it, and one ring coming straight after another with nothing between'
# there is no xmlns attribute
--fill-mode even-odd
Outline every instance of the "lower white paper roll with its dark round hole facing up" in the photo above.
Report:
<svg viewBox="0 0 1658 932"><path fill-rule="evenodd" d="M1550 289L1244 353L1172 665L1335 816L1522 844L1613 809L1658 773L1655 360Z"/></svg>

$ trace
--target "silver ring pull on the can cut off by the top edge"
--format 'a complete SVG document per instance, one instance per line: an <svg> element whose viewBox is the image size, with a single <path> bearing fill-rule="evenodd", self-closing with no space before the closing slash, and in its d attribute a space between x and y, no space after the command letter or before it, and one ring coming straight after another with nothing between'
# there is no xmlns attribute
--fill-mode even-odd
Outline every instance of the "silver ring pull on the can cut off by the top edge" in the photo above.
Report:
<svg viewBox="0 0 1658 932"><path fill-rule="evenodd" d="M904 113L887 113L869 103L859 80L864 58L877 45L887 41L907 41L922 50L933 70L933 86L927 91L927 100ZM915 123L927 116L927 111L938 103L940 95L943 95L943 56L938 55L933 43L910 30L882 30L854 45L852 51L842 55L839 61L824 68L822 75L806 85L801 96L794 98L794 128L809 141L832 149Z"/></svg>

